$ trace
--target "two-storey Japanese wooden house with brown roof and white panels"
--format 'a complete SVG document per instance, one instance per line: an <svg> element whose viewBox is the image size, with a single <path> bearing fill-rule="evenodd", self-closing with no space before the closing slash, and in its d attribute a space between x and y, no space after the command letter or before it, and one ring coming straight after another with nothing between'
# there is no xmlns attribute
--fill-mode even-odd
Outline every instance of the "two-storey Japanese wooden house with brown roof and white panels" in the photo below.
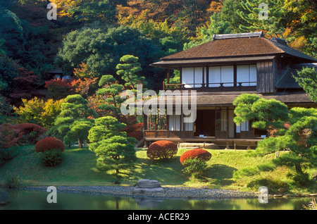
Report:
<svg viewBox="0 0 317 224"><path fill-rule="evenodd" d="M267 132L252 129L251 121L235 125L234 99L250 93L289 107L316 106L292 77L303 67L316 68L316 62L283 39L263 37L263 32L214 35L211 42L161 58L151 66L166 69L163 90L196 90L197 119L184 123L183 115L144 116L142 142L168 139L255 146ZM173 70L180 71L178 84L169 83Z"/></svg>

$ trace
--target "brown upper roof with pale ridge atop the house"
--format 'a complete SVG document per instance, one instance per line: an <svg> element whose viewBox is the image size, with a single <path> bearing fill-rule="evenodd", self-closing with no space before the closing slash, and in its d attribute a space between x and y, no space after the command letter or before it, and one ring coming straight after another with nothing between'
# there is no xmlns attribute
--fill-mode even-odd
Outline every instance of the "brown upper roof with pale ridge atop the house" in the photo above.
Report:
<svg viewBox="0 0 317 224"><path fill-rule="evenodd" d="M289 54L304 58L310 62L317 61L300 51L283 44L282 39L266 39L261 32L235 35L214 35L210 42L206 42L191 49L161 58L162 61L184 59L206 59L238 56L268 56L274 54ZM155 66L155 63L153 64Z"/></svg>

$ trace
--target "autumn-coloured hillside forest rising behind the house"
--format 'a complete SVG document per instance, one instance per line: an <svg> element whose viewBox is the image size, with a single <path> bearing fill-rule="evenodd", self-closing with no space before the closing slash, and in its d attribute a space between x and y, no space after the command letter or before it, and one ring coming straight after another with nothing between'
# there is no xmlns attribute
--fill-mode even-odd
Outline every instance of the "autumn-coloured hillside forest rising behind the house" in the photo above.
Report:
<svg viewBox="0 0 317 224"><path fill-rule="evenodd" d="M49 19L50 3L56 19ZM116 113L120 92L138 83L158 91L166 71L150 64L215 34L263 31L316 57L316 6L313 0L1 0L1 123L50 128L71 94L87 100L97 117L111 108L129 123ZM132 80L126 65L133 66Z"/></svg>

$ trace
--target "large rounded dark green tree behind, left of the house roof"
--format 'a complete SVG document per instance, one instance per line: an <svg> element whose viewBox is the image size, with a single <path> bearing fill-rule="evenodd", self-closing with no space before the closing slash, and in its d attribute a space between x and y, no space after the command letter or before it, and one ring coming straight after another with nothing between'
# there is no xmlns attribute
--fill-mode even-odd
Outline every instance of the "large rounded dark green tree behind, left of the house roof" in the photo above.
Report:
<svg viewBox="0 0 317 224"><path fill-rule="evenodd" d="M116 75L120 58L134 55L149 78L154 75L154 68L149 65L161 56L159 51L159 47L132 27L84 27L66 35L56 62L66 73L73 73L73 68L84 62L95 77L101 77Z"/></svg>

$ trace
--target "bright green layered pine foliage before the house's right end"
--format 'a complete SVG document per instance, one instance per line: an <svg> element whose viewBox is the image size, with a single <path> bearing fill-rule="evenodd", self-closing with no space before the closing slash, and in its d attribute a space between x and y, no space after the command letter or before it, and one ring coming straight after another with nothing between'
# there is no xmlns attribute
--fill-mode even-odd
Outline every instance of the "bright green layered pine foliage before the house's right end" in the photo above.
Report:
<svg viewBox="0 0 317 224"><path fill-rule="evenodd" d="M317 166L317 109L292 108L287 111L287 107L279 101L248 94L237 97L234 105L235 122L255 118L252 127L271 129L271 137L259 142L254 154L264 156L287 150L288 153L278 156L273 163L294 168L294 181L303 185L302 180L306 180L303 166Z"/></svg>

